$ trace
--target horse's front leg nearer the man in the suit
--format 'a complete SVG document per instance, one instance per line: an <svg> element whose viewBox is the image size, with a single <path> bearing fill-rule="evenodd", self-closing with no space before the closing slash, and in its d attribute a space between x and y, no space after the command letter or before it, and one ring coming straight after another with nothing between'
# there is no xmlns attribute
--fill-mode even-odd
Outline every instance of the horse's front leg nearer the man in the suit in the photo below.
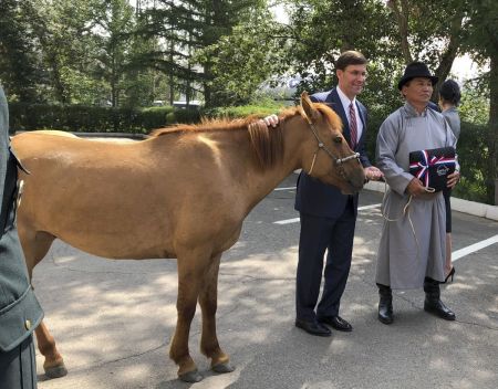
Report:
<svg viewBox="0 0 498 389"><path fill-rule="evenodd" d="M200 351L211 358L211 369L216 372L230 372L234 367L229 364L229 357L218 344L216 335L216 309L218 306L218 271L221 254L211 259L209 267L204 274L199 291L199 305L203 312L203 336Z"/></svg>

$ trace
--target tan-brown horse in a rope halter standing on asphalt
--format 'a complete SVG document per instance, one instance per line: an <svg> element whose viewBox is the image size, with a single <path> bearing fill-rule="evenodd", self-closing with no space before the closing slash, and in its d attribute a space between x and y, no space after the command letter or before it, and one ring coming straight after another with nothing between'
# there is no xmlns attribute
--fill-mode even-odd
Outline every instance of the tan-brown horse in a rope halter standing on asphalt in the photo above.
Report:
<svg viewBox="0 0 498 389"><path fill-rule="evenodd" d="M232 370L216 335L218 269L249 211L298 168L345 193L364 182L338 115L307 94L277 128L247 118L165 128L133 144L25 133L12 145L30 172L20 171L25 189L18 214L30 276L55 238L108 259L177 259L169 356L186 381L203 378L188 350L197 302L200 350L212 370ZM37 337L46 376L65 375L43 324Z"/></svg>

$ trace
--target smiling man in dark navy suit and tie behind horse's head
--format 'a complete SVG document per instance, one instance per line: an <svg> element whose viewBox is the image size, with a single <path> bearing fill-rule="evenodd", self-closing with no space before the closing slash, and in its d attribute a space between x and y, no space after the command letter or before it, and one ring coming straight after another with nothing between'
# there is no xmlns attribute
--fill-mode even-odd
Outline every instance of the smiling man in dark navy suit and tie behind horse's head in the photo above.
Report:
<svg viewBox="0 0 498 389"><path fill-rule="evenodd" d="M343 135L350 147L360 153L365 176L378 180L382 172L366 156L366 108L356 99L366 77L366 59L356 51L341 54L335 63L338 87L311 96L325 103L342 119ZM301 234L295 291L295 326L311 335L330 336L331 326L351 332L350 323L339 316L341 296L351 267L357 195L343 195L339 188L301 172L298 179L295 209L300 212ZM324 287L320 303L323 256L328 250Z"/></svg>

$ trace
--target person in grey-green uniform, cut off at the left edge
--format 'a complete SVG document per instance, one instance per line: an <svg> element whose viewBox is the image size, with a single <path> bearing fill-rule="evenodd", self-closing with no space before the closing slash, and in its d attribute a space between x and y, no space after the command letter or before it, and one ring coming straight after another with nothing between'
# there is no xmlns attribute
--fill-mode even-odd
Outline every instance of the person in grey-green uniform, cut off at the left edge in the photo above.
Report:
<svg viewBox="0 0 498 389"><path fill-rule="evenodd" d="M19 162L9 144L9 112L0 86L0 387L31 389L37 388L32 332L43 312L30 285L15 227Z"/></svg>

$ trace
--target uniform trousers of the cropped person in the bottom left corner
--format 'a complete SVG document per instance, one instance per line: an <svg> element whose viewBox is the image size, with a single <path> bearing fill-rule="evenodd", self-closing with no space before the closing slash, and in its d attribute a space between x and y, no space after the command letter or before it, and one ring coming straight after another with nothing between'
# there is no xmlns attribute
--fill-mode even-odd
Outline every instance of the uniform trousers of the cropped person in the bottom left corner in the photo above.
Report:
<svg viewBox="0 0 498 389"><path fill-rule="evenodd" d="M35 389L37 367L33 337L8 353L0 351L0 388Z"/></svg>

